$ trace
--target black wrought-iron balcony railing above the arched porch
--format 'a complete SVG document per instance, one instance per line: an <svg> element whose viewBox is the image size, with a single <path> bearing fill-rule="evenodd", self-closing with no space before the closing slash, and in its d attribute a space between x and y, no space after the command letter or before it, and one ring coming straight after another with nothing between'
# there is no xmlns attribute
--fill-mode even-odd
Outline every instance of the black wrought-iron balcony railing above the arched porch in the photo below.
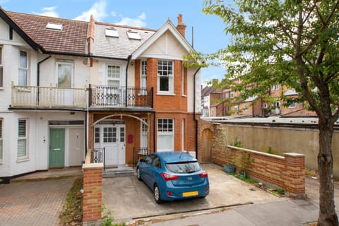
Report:
<svg viewBox="0 0 339 226"><path fill-rule="evenodd" d="M153 107L153 88L90 85L90 107Z"/></svg>

